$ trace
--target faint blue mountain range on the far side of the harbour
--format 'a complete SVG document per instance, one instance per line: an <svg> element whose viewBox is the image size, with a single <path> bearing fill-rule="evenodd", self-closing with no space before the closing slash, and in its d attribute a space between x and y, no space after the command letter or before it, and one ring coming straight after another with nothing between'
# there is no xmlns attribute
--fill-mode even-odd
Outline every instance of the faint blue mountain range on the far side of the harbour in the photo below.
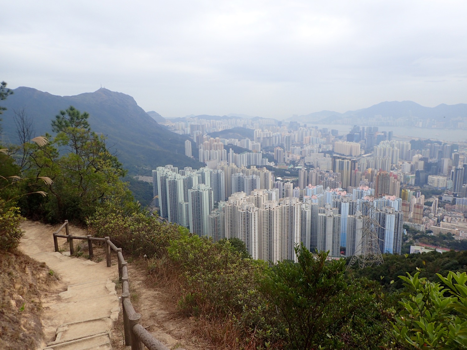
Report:
<svg viewBox="0 0 467 350"><path fill-rule="evenodd" d="M391 101L381 102L377 105L372 105L368 108L362 108L356 111L347 111L339 113L334 111L314 112L306 115L294 116L289 120L299 121L302 123L340 123L343 119L353 118L355 120L371 120L375 116L382 118L392 117L392 119L434 119L443 121L455 119L458 117L467 118L467 104L446 105L441 104L436 107L425 107L413 101Z"/></svg>

